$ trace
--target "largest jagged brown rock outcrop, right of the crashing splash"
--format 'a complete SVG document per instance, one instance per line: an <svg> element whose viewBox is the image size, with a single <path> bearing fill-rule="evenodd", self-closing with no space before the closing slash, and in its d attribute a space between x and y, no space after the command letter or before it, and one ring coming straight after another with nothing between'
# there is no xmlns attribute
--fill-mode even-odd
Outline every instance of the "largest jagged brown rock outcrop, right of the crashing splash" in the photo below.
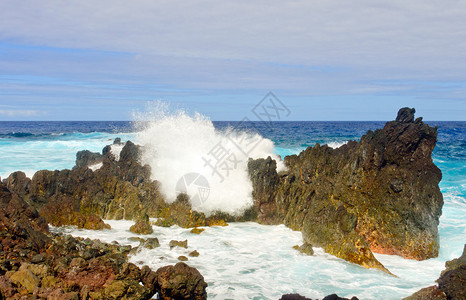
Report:
<svg viewBox="0 0 466 300"><path fill-rule="evenodd" d="M436 257L443 205L436 141L437 129L403 108L359 142L285 157L281 174L270 158L250 160L257 220L283 222L306 244L368 268L386 271L372 252Z"/></svg>

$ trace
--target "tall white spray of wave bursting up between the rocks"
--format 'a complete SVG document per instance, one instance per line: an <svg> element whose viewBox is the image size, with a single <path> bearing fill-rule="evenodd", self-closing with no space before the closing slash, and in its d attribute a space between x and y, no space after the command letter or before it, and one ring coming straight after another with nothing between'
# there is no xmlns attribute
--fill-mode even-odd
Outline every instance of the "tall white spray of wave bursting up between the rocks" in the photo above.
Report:
<svg viewBox="0 0 466 300"><path fill-rule="evenodd" d="M207 117L198 113L189 116L182 111L154 109L138 117L149 120L144 122L136 141L144 146L143 163L152 167L152 178L161 182L161 191L169 202L176 198L179 180L186 174L197 173L207 180L210 193L202 203L197 203L196 210L207 214L214 210L239 213L253 203L247 172L249 157L271 156L277 160L278 169L284 169L283 162L274 154L273 142L256 133L231 128L218 131ZM196 197L192 191L188 190L188 194Z"/></svg>

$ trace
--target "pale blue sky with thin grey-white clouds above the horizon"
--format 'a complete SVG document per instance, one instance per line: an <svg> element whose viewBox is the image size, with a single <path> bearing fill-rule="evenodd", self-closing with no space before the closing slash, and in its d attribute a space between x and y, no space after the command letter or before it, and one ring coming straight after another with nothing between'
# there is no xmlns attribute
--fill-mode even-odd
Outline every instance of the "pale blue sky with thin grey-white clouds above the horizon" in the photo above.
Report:
<svg viewBox="0 0 466 300"><path fill-rule="evenodd" d="M466 1L1 0L0 121L466 120Z"/></svg>

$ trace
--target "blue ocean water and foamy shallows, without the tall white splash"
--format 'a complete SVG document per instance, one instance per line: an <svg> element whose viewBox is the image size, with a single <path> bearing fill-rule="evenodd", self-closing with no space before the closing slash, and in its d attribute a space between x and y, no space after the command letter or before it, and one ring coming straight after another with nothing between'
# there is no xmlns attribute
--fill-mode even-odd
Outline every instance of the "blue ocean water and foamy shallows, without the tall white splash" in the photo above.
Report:
<svg viewBox="0 0 466 300"><path fill-rule="evenodd" d="M384 123L213 122L213 125L219 131L233 127L258 132L272 140L275 153L283 157L297 154L315 143L338 147L348 140L358 140L369 129L382 128ZM443 173L440 188L445 204L439 226L441 248L438 258L417 262L396 256L377 255L388 269L399 276L398 279L387 278L378 271L347 264L319 251L317 257L301 257L289 250L291 247L277 248L277 243L283 241L299 243L299 233L290 232L286 228L238 224L228 229L209 229L212 232L205 236L212 239L198 241L198 250L206 248L205 251L213 251L210 259L192 261L209 280L209 295L217 299L270 299L278 298L284 292L299 292L308 297L322 297L338 292L340 296L357 295L360 299L376 299L381 296L386 299L400 299L419 288L434 284L444 262L459 256L466 242L466 122L427 123L438 126L438 143L433 160ZM72 168L79 150L99 152L116 137L121 137L123 141L137 140L138 130L135 128L140 127L133 125L131 122L0 122L0 177L6 178L16 170L25 171L28 176L32 176L41 169ZM112 223L115 228L112 230L115 232L110 236L105 232L79 231L73 234L103 240L121 235L120 238L124 241L128 232L124 226L125 223ZM156 232L165 236L170 232L184 234L179 228L169 232L161 230ZM254 255L251 256L241 247L257 244L251 242L257 235L270 236L270 240L259 243L261 246L254 248L251 252ZM222 239L227 239L231 244ZM218 242L219 240L222 242ZM236 244L242 246L235 248ZM258 253L261 249L265 252ZM278 249L279 252L272 253L273 249ZM235 255L236 260L229 253ZM160 266L161 262L154 260L152 256L153 254L138 259L153 267ZM244 261L241 261L243 256ZM274 263L271 264L271 260ZM209 266L209 261L213 264L215 261L229 261L231 270ZM249 265L254 267L249 268ZM219 276L222 278L217 279ZM261 280L264 282L257 285ZM235 295L243 297L234 297Z"/></svg>

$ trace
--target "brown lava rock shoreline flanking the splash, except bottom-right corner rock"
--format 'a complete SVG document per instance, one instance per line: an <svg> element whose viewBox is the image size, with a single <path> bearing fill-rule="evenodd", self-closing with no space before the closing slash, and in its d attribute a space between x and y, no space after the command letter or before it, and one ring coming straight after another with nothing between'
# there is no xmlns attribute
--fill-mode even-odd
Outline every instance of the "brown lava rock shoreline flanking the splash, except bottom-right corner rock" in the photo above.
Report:
<svg viewBox="0 0 466 300"><path fill-rule="evenodd" d="M250 160L254 205L240 216L206 216L194 211L183 194L167 203L159 183L151 180L157 170L141 164L143 149L130 141L117 139L102 154L80 151L72 170L43 170L32 179L15 172L0 183L0 299L55 294L59 296L51 299L149 299L155 293L161 299L206 297L202 275L184 263L157 272L140 269L127 262L126 246L51 234L47 224L105 229L110 226L103 219L126 219L136 222L132 231L140 234L152 230L149 217L158 218L159 226L184 228L235 221L285 224L302 232L304 245L297 249L303 253L312 255L313 246L321 247L389 274L373 252L417 260L436 257L443 205L442 175L431 158L437 129L414 119L414 112L401 109L395 121L367 132L359 142L337 149L317 144L287 156L287 171L281 173L270 157ZM43 259L34 263L39 257ZM32 286L18 281L25 274ZM96 274L107 279L89 285ZM187 281L166 286L180 274ZM196 283L186 284L191 281Z"/></svg>

